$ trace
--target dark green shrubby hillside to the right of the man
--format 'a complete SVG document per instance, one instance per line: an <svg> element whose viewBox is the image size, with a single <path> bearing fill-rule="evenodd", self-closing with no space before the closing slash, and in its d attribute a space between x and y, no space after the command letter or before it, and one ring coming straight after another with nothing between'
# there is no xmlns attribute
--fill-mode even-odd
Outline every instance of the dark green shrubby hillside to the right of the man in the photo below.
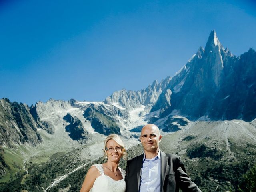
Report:
<svg viewBox="0 0 256 192"><path fill-rule="evenodd" d="M182 157L188 174L205 192L256 191L255 188L248 190L244 187L253 186L256 183L256 169L252 168L248 171L256 162L255 146L248 143L236 143L232 139L228 141L230 150L236 153L229 154L223 143L210 142L210 138L204 140L203 143L190 144L186 150L186 156ZM246 172L246 176L243 176Z"/></svg>

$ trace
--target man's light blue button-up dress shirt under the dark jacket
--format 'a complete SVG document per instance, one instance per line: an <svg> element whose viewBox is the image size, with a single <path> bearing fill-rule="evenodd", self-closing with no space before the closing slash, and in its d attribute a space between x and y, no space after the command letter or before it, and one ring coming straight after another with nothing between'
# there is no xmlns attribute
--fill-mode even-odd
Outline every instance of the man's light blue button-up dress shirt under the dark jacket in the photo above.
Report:
<svg viewBox="0 0 256 192"><path fill-rule="evenodd" d="M145 153L140 177L140 192L160 192L161 190L161 155L146 159Z"/></svg>

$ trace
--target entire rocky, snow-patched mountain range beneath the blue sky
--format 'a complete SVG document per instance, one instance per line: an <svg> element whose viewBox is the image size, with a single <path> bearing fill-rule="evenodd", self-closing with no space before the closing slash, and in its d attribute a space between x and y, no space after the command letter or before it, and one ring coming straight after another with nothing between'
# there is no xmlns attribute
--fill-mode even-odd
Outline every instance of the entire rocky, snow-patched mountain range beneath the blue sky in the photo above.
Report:
<svg viewBox="0 0 256 192"><path fill-rule="evenodd" d="M239 146L238 143L246 148L242 143L247 142L246 152L250 153L247 156L254 157L255 71L256 52L252 48L236 57L223 48L213 30L205 48L200 47L175 76L154 81L142 90L119 90L102 102L50 99L30 107L3 98L0 100L0 182L6 187L18 178L24 181L24 176L35 178L39 173L36 175L33 167L40 169L64 156L70 162L67 154L75 156L76 150L80 151L76 160L71 158L76 166L86 164L85 160L97 160L102 152L86 149L101 148L104 138L111 133L121 135L135 155L142 152L136 145L139 132L147 123L158 125L166 138L162 149L184 157L191 170L214 164L209 158L238 162L240 158L236 156L244 151L242 148L236 151L234 146ZM234 132L243 138L237 138ZM64 167L58 174L75 169ZM34 173L28 173L31 171ZM37 184L40 190L45 190L54 179L47 177L42 185ZM198 182L206 178L212 175L204 175ZM226 182L222 179L218 185L226 189ZM235 186L232 184L229 185Z"/></svg>

